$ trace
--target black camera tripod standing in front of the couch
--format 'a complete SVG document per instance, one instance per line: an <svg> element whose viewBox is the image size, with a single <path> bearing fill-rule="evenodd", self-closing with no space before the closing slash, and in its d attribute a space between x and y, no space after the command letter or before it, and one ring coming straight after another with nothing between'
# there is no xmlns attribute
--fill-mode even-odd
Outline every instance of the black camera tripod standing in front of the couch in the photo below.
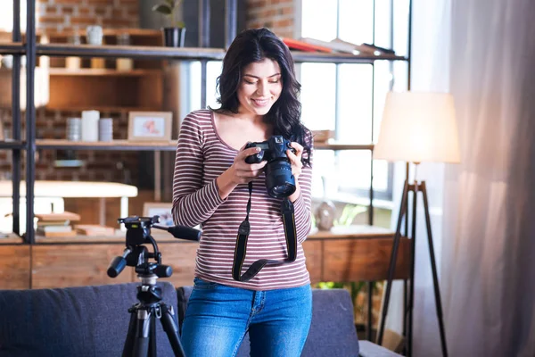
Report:
<svg viewBox="0 0 535 357"><path fill-rule="evenodd" d="M123 347L123 357L156 357L156 320L161 321L161 326L169 338L169 343L178 357L185 357L184 350L178 336L177 315L172 306L163 303L161 287L156 286L158 278L169 278L173 274L171 267L161 264L161 253L156 241L151 236L151 227L158 222L159 217L128 217L119 219L127 227L127 247L122 256L115 257L108 269L108 276L117 277L128 265L136 267L137 277L141 279L141 285L137 286L137 299L128 309L130 322L128 334ZM169 231L174 237L198 241L201 232L197 229L186 227L161 227L154 228ZM154 253L149 253L144 243L150 243ZM153 258L156 262L149 262Z"/></svg>

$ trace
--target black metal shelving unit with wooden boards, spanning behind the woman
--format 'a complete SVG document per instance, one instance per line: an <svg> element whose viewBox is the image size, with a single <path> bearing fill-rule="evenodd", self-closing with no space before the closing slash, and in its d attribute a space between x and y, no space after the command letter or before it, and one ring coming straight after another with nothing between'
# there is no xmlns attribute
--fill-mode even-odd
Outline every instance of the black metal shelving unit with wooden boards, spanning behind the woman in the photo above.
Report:
<svg viewBox="0 0 535 357"><path fill-rule="evenodd" d="M12 231L20 236L20 199L21 199L21 153L26 151L26 235L25 243L35 244L35 232L33 229L34 215L34 185L35 185L35 153L37 149L68 149L68 150L115 150L115 151L174 151L174 145L93 145L65 144L51 142L50 140L36 140L36 108L34 104L35 65L37 56L47 55L55 57L80 56L80 57L109 57L109 58L144 58L157 60L180 60L200 61L202 63L202 107L206 106L206 63L209 61L221 61L225 56L225 49L210 48L210 1L202 0L199 6L199 47L169 48L161 46L88 46L88 45L62 45L62 44L37 44L36 43L36 16L35 0L27 0L27 33L24 43L21 37L21 0L13 0L13 32L12 43L0 44L0 54L13 55L12 70L12 140L0 142L0 150L12 150L12 208L13 224ZM393 4L393 1L392 1ZM412 4L409 1L409 6ZM375 14L374 14L375 15ZM410 16L410 15L409 15ZM236 35L237 25L237 0L226 0L226 47L230 45ZM410 21L409 21L410 22ZM409 26L410 37L410 26ZM21 79L21 55L27 57L26 64L26 137L21 139L21 107L20 107L20 79ZM410 61L410 46L407 56L377 55L360 56L352 54L320 54L292 52L296 63L302 62L328 62L328 63L369 63L375 61ZM409 66L410 68L410 66ZM373 120L373 119L372 119ZM370 140L373 142L373 138ZM373 152L374 145L317 145L317 149L326 150L367 150ZM373 161L372 175L373 175ZM373 176L370 178L373 182ZM370 185L369 223L373 224L373 184Z"/></svg>

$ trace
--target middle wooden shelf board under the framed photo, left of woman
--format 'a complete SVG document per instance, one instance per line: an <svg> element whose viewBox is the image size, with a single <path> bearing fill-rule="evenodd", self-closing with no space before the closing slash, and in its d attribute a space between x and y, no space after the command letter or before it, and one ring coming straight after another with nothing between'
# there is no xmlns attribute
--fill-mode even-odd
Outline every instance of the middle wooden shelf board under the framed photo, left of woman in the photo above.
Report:
<svg viewBox="0 0 535 357"><path fill-rule="evenodd" d="M53 150L115 150L115 151L175 151L177 141L128 141L76 142L62 139L37 139L37 149Z"/></svg>

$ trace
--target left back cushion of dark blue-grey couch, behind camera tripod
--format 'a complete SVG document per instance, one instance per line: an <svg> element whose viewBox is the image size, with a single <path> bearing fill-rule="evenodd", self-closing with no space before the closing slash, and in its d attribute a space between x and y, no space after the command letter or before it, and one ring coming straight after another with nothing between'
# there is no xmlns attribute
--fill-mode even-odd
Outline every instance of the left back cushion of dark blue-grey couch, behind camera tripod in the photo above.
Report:
<svg viewBox="0 0 535 357"><path fill-rule="evenodd" d="M138 285L0 290L0 356L121 355ZM175 287L158 285L162 302L177 306ZM158 320L156 338L158 355L173 356Z"/></svg>

